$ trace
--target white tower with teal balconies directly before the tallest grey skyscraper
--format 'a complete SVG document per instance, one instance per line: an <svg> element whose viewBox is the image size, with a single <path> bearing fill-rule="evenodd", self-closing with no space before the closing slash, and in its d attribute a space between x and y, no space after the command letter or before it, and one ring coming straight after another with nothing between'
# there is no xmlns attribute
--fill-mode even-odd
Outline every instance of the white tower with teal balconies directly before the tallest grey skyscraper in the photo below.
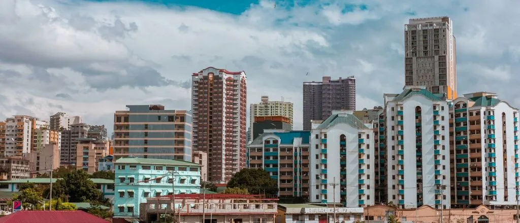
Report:
<svg viewBox="0 0 520 223"><path fill-rule="evenodd" d="M407 86L385 94L388 202L400 208L450 207L449 104Z"/></svg>

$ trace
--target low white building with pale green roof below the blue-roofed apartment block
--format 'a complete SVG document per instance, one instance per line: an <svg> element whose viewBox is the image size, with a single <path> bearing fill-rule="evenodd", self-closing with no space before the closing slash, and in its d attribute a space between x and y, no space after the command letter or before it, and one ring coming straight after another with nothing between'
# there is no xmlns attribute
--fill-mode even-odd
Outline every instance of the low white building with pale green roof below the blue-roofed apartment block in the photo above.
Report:
<svg viewBox="0 0 520 223"><path fill-rule="evenodd" d="M362 219L363 207L336 207L334 210L313 204L278 204L277 223L354 223Z"/></svg>

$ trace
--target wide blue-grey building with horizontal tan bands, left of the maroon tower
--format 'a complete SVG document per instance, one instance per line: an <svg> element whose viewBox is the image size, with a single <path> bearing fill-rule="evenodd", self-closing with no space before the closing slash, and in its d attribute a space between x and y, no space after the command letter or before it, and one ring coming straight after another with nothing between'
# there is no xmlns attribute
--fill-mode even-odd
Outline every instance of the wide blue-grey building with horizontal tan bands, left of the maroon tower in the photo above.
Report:
<svg viewBox="0 0 520 223"><path fill-rule="evenodd" d="M191 162L190 111L165 110L163 105L126 107L114 114L115 160L134 156Z"/></svg>

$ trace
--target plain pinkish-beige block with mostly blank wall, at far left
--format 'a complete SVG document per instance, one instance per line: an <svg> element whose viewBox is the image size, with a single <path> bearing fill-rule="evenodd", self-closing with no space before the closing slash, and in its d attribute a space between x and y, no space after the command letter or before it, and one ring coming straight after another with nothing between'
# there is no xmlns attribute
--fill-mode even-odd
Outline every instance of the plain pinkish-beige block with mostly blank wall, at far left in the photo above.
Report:
<svg viewBox="0 0 520 223"><path fill-rule="evenodd" d="M59 144L55 142L46 144L28 154L26 158L30 161L32 173L44 174L56 170L60 167Z"/></svg>

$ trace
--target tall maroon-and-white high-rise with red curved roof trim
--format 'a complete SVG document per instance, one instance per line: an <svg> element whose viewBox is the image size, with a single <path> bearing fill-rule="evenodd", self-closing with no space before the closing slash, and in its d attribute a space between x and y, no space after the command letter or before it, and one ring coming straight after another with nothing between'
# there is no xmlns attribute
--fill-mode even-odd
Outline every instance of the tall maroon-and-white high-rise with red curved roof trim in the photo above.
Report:
<svg viewBox="0 0 520 223"><path fill-rule="evenodd" d="M227 182L245 167L245 72L207 67L192 75L193 148L207 152L212 182Z"/></svg>

